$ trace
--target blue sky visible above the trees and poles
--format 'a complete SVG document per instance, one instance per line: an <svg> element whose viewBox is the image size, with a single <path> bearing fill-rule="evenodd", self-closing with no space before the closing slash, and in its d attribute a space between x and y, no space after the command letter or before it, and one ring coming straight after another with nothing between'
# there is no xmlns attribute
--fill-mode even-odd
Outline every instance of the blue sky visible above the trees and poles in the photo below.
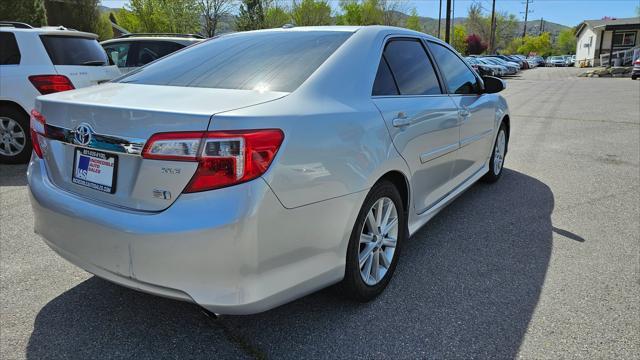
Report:
<svg viewBox="0 0 640 360"><path fill-rule="evenodd" d="M456 16L465 16L469 5L474 2L474 0L454 1ZM479 1L487 11L491 11L491 0L475 1ZM123 7L127 2L127 0L102 0L102 5ZM338 0L331 0L330 3L334 8L338 6ZM438 17L439 3L439 0L408 1L410 7L415 6L420 16L433 18ZM496 0L496 9L515 14L522 19L524 18L523 3L524 0ZM640 0L532 0L529 5L529 19L543 17L548 21L574 26L582 20L600 19L603 16L633 17L636 16L635 8L638 5ZM446 0L443 0L443 8L445 6Z"/></svg>

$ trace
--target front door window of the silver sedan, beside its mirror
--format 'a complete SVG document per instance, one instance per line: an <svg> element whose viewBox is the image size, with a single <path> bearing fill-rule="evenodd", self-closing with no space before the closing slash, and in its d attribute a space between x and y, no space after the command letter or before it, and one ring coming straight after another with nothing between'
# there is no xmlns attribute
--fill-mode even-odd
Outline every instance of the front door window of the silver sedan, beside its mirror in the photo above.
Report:
<svg viewBox="0 0 640 360"><path fill-rule="evenodd" d="M456 54L446 47L433 42L429 42L429 49L445 78L449 93L478 93L478 78Z"/></svg>

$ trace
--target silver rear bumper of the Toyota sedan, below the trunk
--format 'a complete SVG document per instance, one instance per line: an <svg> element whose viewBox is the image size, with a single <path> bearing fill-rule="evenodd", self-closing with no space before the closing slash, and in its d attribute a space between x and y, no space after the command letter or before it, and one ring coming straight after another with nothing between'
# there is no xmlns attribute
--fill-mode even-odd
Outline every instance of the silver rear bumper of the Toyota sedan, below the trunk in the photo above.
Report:
<svg viewBox="0 0 640 360"><path fill-rule="evenodd" d="M35 231L62 257L112 282L221 314L264 311L340 281L366 195L285 209L259 178L140 213L57 188L39 159L28 181Z"/></svg>

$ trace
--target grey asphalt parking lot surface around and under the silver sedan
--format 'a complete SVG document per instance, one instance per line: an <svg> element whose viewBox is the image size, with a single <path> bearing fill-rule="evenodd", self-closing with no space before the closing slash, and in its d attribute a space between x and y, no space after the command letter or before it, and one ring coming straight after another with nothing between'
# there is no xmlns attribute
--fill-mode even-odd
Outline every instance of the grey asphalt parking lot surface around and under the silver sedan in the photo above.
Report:
<svg viewBox="0 0 640 360"><path fill-rule="evenodd" d="M59 258L0 165L0 358L639 358L640 82L508 80L504 177L405 244L376 301L329 288L213 319Z"/></svg>

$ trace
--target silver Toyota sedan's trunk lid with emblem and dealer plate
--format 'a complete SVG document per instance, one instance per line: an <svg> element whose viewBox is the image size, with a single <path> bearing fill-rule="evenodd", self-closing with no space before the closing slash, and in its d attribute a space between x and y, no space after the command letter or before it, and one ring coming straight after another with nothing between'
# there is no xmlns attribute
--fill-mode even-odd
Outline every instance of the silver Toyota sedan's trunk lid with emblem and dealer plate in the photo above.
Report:
<svg viewBox="0 0 640 360"><path fill-rule="evenodd" d="M189 183L197 163L143 159L140 152L151 135L205 131L213 114L285 95L109 83L41 96L36 107L46 119L48 176L56 186L97 202L161 211Z"/></svg>

